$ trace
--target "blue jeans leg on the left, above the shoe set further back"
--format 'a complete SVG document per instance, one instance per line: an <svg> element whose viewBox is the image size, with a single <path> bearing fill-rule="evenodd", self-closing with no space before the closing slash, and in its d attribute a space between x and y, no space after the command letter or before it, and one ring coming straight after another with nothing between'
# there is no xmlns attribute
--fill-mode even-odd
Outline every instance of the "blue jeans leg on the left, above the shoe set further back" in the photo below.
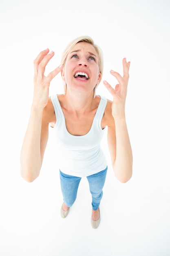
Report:
<svg viewBox="0 0 170 256"><path fill-rule="evenodd" d="M60 184L64 203L67 207L71 207L77 198L77 190L81 178L67 175L60 171Z"/></svg>

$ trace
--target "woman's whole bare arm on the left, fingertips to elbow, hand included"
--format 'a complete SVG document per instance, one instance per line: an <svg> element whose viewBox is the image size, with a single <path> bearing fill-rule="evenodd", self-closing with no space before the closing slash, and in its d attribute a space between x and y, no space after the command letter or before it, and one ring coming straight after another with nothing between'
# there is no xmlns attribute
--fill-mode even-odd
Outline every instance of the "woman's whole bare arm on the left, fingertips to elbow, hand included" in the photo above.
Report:
<svg viewBox="0 0 170 256"><path fill-rule="evenodd" d="M53 115L49 107L49 85L62 70L62 67L57 67L44 76L45 67L54 55L54 52L48 53L49 49L42 51L34 61L33 103L20 155L21 176L28 182L35 180L40 173Z"/></svg>

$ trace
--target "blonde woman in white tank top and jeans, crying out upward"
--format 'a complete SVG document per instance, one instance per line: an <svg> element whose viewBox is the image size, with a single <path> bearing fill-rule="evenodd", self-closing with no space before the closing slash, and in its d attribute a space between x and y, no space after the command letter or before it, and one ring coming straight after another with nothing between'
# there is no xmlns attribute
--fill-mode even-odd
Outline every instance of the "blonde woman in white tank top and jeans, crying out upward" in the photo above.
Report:
<svg viewBox="0 0 170 256"><path fill-rule="evenodd" d="M103 58L92 38L82 36L73 40L63 53L62 65L44 76L45 67L53 56L54 52L46 49L34 61L34 94L21 150L21 175L28 182L38 177L49 125L52 126L60 148L58 159L64 198L61 216L67 216L81 178L87 177L92 194L91 224L97 228L107 172L106 158L100 148L106 126L115 176L120 182L127 182L132 176L132 150L125 119L130 62L123 59L123 77L110 71L118 81L115 89L104 81L113 96L112 102L95 95L102 79ZM50 82L59 72L64 81L64 94L49 97Z"/></svg>

